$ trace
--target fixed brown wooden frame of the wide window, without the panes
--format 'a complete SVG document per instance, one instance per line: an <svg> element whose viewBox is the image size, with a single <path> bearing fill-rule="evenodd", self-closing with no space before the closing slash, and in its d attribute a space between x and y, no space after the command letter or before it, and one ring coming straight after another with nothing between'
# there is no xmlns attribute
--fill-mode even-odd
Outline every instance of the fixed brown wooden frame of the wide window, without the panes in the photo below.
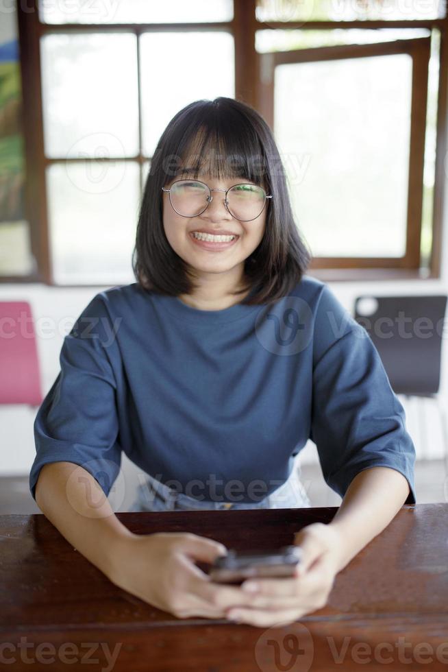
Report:
<svg viewBox="0 0 448 672"><path fill-rule="evenodd" d="M43 139L43 115L42 115L42 83L40 76L40 37L43 34L57 32L132 32L137 36L143 32L190 32L190 31L209 31L224 30L234 36L235 45L235 96L237 99L245 101L258 110L262 110L263 96L265 92L260 85L261 56L256 51L255 40L256 31L260 29L334 29L342 27L362 28L362 29L380 29L380 28L438 28L440 31L440 69L438 78L438 106L437 106L437 128L436 128L436 167L434 182L434 202L433 202L433 221L432 221L432 253L430 260L429 274L422 274L419 268L415 267L416 249L420 249L420 230L418 235L415 230L407 232L407 249L412 254L408 256L406 263L397 263L397 259L387 260L369 260L362 265L353 267L353 260L343 258L319 259L312 261L310 271L316 277L324 281L327 280L386 280L386 279L404 279L404 278L439 278L441 261L441 239L442 239L442 219L444 206L444 185L445 185L445 153L447 152L446 138L446 115L447 115L447 78L448 78L448 48L447 48L447 29L448 18L426 19L423 21L308 21L306 23L297 21L270 21L264 23L256 18L256 0L234 0L234 18L229 22L216 23L124 23L124 24L45 24L40 23L38 17L38 0L32 0L28 3L17 3L18 10L18 39L20 45L20 64L23 91L23 133L25 139L25 214L29 221L32 253L36 259L36 269L29 276L1 276L0 283L45 283L58 287L103 287L103 285L57 285L53 282L51 274L51 258L49 250L49 230L48 230L48 211L46 195L46 167L49 163L58 161L77 160L77 159L49 159L44 152ZM399 40L406 42L406 40ZM137 40L138 43L138 40ZM390 43L393 45L394 43ZM364 45L362 45L364 47ZM372 45L374 47L375 45ZM353 46L351 47L353 49ZM323 48L319 52L323 53ZM334 49L328 47L327 49ZM309 50L311 51L311 50ZM336 53L336 52L334 52ZM385 53L385 52L382 52ZM413 61L414 62L414 61ZM419 73L421 76L421 73ZM414 84L414 70L413 70ZM140 87L140 78L139 78ZM426 94L425 94L426 96ZM414 97L414 86L413 86ZM140 90L139 90L140 100ZM412 101L414 109L414 100ZM411 121L412 129L412 121ZM411 130L412 133L412 130ZM140 135L140 133L139 133ZM416 153L423 151L421 143L416 144ZM112 159L105 159L112 160ZM148 160L143 156L141 149L137 156L127 157L124 160L138 161L140 169L142 164ZM416 165L416 164L415 164ZM422 167L423 168L423 167ZM414 169L413 184L419 179L421 171ZM423 175L421 176L423 184ZM409 195L412 200L412 195ZM414 204L421 211L420 204ZM421 218L420 218L421 219ZM409 240L410 236L412 241ZM349 262L352 262L351 264ZM357 260L358 261L358 260ZM381 267L375 266L381 261ZM392 263L388 263L392 261ZM402 260L400 260L402 262ZM348 262L348 263L347 263ZM331 267L329 267L331 265ZM347 267L350 266L351 267Z"/></svg>

